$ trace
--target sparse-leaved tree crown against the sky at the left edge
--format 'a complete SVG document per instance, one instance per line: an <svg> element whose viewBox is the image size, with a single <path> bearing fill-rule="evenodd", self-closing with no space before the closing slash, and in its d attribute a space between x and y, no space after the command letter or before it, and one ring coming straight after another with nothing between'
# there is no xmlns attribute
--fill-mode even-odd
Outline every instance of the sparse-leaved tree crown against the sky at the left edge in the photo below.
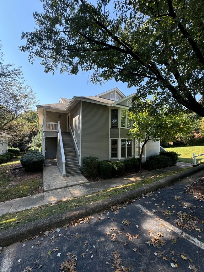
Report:
<svg viewBox="0 0 204 272"><path fill-rule="evenodd" d="M21 67L4 64L2 57L0 51L0 131L7 131L13 120L32 108L36 97L32 88L25 85Z"/></svg>

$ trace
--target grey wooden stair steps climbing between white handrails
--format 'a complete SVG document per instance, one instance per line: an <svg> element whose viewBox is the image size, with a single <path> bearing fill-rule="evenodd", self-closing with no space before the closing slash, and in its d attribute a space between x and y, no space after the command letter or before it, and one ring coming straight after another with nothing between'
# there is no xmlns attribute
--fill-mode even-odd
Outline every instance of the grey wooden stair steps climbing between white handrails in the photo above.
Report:
<svg viewBox="0 0 204 272"><path fill-rule="evenodd" d="M72 136L69 132L62 133L62 142L66 160L65 163L66 177L80 175L81 171L79 167L77 154L72 141Z"/></svg>

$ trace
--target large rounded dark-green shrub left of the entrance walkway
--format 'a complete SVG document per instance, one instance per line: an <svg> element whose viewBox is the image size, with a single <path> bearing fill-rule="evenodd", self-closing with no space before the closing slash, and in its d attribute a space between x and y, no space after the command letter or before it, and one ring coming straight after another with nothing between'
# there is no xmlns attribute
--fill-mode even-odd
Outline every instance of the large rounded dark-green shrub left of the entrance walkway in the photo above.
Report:
<svg viewBox="0 0 204 272"><path fill-rule="evenodd" d="M37 172L42 170L44 158L39 152L28 152L20 158L20 163L26 171Z"/></svg>

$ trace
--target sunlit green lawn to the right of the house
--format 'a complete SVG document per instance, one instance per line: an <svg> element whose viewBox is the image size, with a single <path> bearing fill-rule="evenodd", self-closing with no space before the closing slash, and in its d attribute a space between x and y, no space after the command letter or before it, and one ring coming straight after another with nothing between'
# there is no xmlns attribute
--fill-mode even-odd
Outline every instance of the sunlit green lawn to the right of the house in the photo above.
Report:
<svg viewBox="0 0 204 272"><path fill-rule="evenodd" d="M197 147L169 147L165 148L166 151L174 151L178 153L179 162L183 163L193 163L193 153L196 155L204 153L204 146L197 146ZM196 163L204 161L204 156L196 158Z"/></svg>

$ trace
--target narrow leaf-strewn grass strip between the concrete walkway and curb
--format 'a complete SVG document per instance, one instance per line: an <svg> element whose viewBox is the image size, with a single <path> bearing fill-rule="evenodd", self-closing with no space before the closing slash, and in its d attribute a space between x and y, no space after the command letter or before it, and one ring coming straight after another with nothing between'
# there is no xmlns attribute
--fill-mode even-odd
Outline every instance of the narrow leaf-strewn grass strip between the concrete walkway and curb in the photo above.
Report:
<svg viewBox="0 0 204 272"><path fill-rule="evenodd" d="M52 204L46 204L39 207L27 209L24 211L18 211L18 212L13 212L10 214L5 214L3 216L0 216L0 231L11 228L11 227L15 227L17 225L32 222L37 219L45 218L54 214L58 214L64 211L70 211L75 207L94 203L96 201L109 198L114 195L122 194L126 191L137 189L146 184L150 184L152 182L158 181L165 177L182 172L186 169L188 168L183 168L183 169L179 169L172 172L165 172L162 174L155 175L153 178L142 179L134 183L124 184L114 188L105 189L105 190L99 191L98 193L75 197L75 198L72 198L71 200L65 200L65 201L61 200Z"/></svg>

